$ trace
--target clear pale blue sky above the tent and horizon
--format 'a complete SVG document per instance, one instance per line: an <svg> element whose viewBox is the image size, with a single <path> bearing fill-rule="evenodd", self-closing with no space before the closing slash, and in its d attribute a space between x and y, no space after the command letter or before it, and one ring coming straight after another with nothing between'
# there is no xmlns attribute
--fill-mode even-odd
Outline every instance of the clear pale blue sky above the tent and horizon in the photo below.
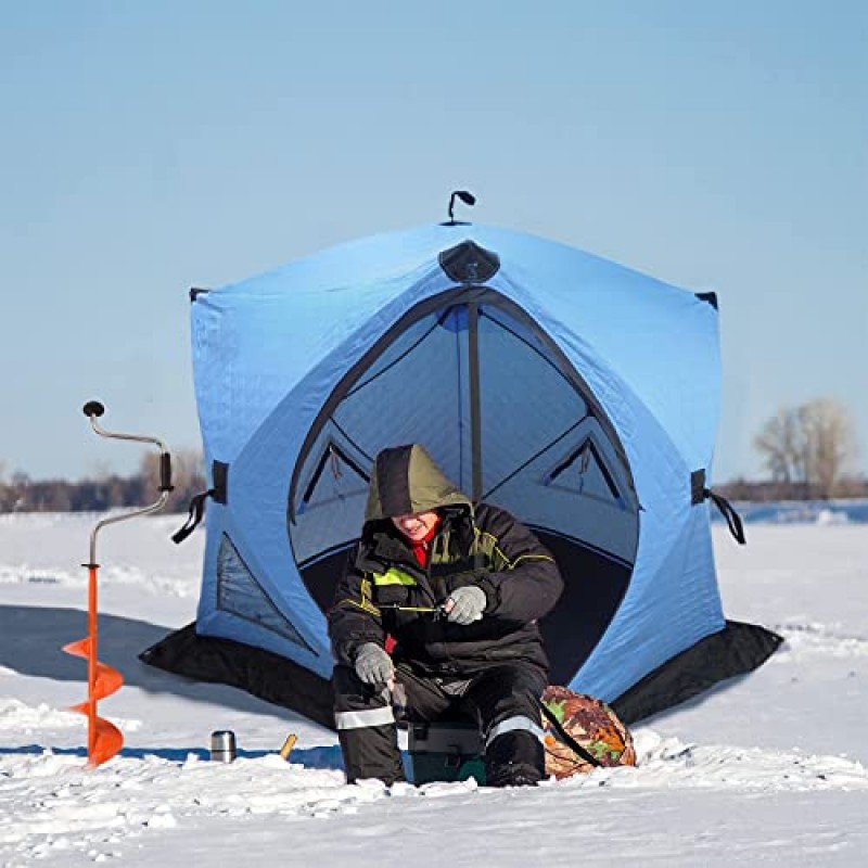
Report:
<svg viewBox="0 0 868 868"><path fill-rule="evenodd" d="M713 478L831 397L868 467L868 4L0 0L5 472L196 447L191 285L445 218L718 293Z"/></svg>

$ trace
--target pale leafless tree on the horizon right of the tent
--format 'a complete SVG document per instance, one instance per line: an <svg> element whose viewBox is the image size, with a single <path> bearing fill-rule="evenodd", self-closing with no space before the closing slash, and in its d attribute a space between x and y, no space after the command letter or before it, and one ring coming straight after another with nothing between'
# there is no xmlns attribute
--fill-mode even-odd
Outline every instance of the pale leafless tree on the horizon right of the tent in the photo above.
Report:
<svg viewBox="0 0 868 868"><path fill-rule="evenodd" d="M781 408L754 439L773 482L801 489L803 497L833 497L855 457L853 422L829 398Z"/></svg>

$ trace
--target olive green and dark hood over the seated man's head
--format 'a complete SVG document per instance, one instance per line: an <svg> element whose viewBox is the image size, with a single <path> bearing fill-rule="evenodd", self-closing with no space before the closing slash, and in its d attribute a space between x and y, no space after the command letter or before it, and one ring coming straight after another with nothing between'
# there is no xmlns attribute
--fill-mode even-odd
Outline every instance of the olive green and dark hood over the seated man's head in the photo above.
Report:
<svg viewBox="0 0 868 868"><path fill-rule="evenodd" d="M395 446L376 456L366 523L455 506L472 509L470 498L446 478L424 446Z"/></svg>

